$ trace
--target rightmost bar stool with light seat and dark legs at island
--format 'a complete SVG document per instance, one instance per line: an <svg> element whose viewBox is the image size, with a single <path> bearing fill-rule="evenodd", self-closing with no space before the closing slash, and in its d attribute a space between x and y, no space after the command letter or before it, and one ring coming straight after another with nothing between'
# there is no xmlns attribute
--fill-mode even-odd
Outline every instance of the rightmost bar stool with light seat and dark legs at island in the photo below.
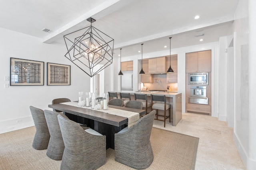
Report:
<svg viewBox="0 0 256 170"><path fill-rule="evenodd" d="M151 111L152 109L156 109L156 119L155 120L160 120L164 121L164 127L165 127L165 121L166 119L169 118L169 122L171 123L171 105L166 104L166 96L158 96L158 95L150 95L151 97ZM154 103L153 101L158 101L158 102L164 102L164 103ZM169 116L166 116L166 110L169 109ZM164 110L164 115L158 115L158 110ZM164 120L158 119L158 116L163 116Z"/></svg>

